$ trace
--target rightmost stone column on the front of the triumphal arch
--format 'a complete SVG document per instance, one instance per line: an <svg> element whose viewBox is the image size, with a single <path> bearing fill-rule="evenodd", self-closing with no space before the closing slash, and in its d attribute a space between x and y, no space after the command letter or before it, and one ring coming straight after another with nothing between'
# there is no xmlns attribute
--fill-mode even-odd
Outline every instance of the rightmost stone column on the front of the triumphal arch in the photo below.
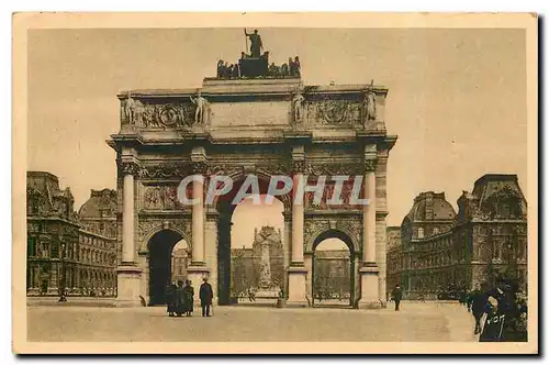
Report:
<svg viewBox="0 0 549 365"><path fill-rule="evenodd" d="M362 207L362 267L360 268L359 308L379 308L379 267L376 262L376 159L365 161Z"/></svg>

